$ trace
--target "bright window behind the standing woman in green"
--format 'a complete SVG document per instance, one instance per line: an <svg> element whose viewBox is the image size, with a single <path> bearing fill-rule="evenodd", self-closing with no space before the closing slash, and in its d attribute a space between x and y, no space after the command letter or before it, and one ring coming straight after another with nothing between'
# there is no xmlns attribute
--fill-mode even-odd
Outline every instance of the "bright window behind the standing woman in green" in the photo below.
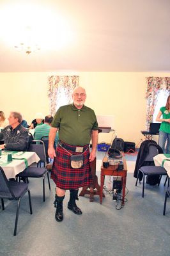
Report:
<svg viewBox="0 0 170 256"><path fill-rule="evenodd" d="M153 122L154 123L158 123L158 122L156 122L158 111L160 110L161 107L166 106L166 100L167 100L168 96L169 96L168 90L158 90L157 105L155 106L155 111L153 113Z"/></svg>

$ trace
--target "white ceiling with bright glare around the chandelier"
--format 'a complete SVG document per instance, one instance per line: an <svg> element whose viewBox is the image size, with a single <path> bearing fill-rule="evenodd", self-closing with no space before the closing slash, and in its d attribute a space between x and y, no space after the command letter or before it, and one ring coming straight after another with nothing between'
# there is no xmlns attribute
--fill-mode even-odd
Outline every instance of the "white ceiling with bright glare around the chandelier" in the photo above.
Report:
<svg viewBox="0 0 170 256"><path fill-rule="evenodd" d="M39 10L51 10L52 17L60 15L72 33L72 41L58 48L62 35L57 29L62 28L63 22L53 21L51 28L43 31L50 20L44 12L42 28L36 36L41 33L45 47L30 56L17 52L13 40L17 40L15 21L22 13L23 3L36 10L37 22ZM169 72L169 13L169 0L1 0L0 72ZM29 8L24 13L27 14L32 22L35 14ZM24 15L20 24L24 24Z"/></svg>

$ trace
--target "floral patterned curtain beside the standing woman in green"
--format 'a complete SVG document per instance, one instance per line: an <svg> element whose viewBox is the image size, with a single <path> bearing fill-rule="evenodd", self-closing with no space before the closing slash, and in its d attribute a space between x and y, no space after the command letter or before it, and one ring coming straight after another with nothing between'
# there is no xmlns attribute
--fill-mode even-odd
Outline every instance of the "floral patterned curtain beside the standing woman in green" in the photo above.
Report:
<svg viewBox="0 0 170 256"><path fill-rule="evenodd" d="M149 130L150 123L153 121L153 113L157 104L157 95L159 90L169 90L170 93L170 77L146 77L146 81L146 127Z"/></svg>

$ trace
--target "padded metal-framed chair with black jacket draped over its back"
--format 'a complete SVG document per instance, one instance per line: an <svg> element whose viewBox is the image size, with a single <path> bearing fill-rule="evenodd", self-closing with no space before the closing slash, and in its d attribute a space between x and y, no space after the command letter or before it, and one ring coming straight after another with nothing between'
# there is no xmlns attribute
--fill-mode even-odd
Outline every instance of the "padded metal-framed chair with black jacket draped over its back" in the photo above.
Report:
<svg viewBox="0 0 170 256"><path fill-rule="evenodd" d="M153 157L154 156L157 156L158 154L158 149L157 147L155 147L154 145L150 145L149 146L149 152L148 152L148 155L145 157L144 161L146 162L151 162L151 163L154 163L153 161ZM143 174L143 197L144 197L144 182L145 182L145 179L144 177L147 175L147 176L153 176L153 175L159 175L159 182L158 182L158 186L160 184L160 180L162 178L162 176L167 176L167 172L165 170L164 167L161 167L161 166L155 166L155 165L148 165L148 166L142 166L139 170L138 170L138 173L137 173L137 179L136 179L136 182L135 182L135 186L137 186L137 181L139 179L139 175L140 173ZM168 184L169 184L169 179L168 179Z"/></svg>

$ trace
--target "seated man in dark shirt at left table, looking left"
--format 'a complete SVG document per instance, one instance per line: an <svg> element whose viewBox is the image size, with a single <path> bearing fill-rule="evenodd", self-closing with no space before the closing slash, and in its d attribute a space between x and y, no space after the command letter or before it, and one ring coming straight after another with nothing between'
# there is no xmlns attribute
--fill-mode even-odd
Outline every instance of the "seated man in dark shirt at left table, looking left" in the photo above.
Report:
<svg viewBox="0 0 170 256"><path fill-rule="evenodd" d="M22 116L18 112L11 112L8 120L10 125L0 132L0 140L4 140L4 144L0 145L0 148L12 151L26 151L29 135L26 128L20 124Z"/></svg>

